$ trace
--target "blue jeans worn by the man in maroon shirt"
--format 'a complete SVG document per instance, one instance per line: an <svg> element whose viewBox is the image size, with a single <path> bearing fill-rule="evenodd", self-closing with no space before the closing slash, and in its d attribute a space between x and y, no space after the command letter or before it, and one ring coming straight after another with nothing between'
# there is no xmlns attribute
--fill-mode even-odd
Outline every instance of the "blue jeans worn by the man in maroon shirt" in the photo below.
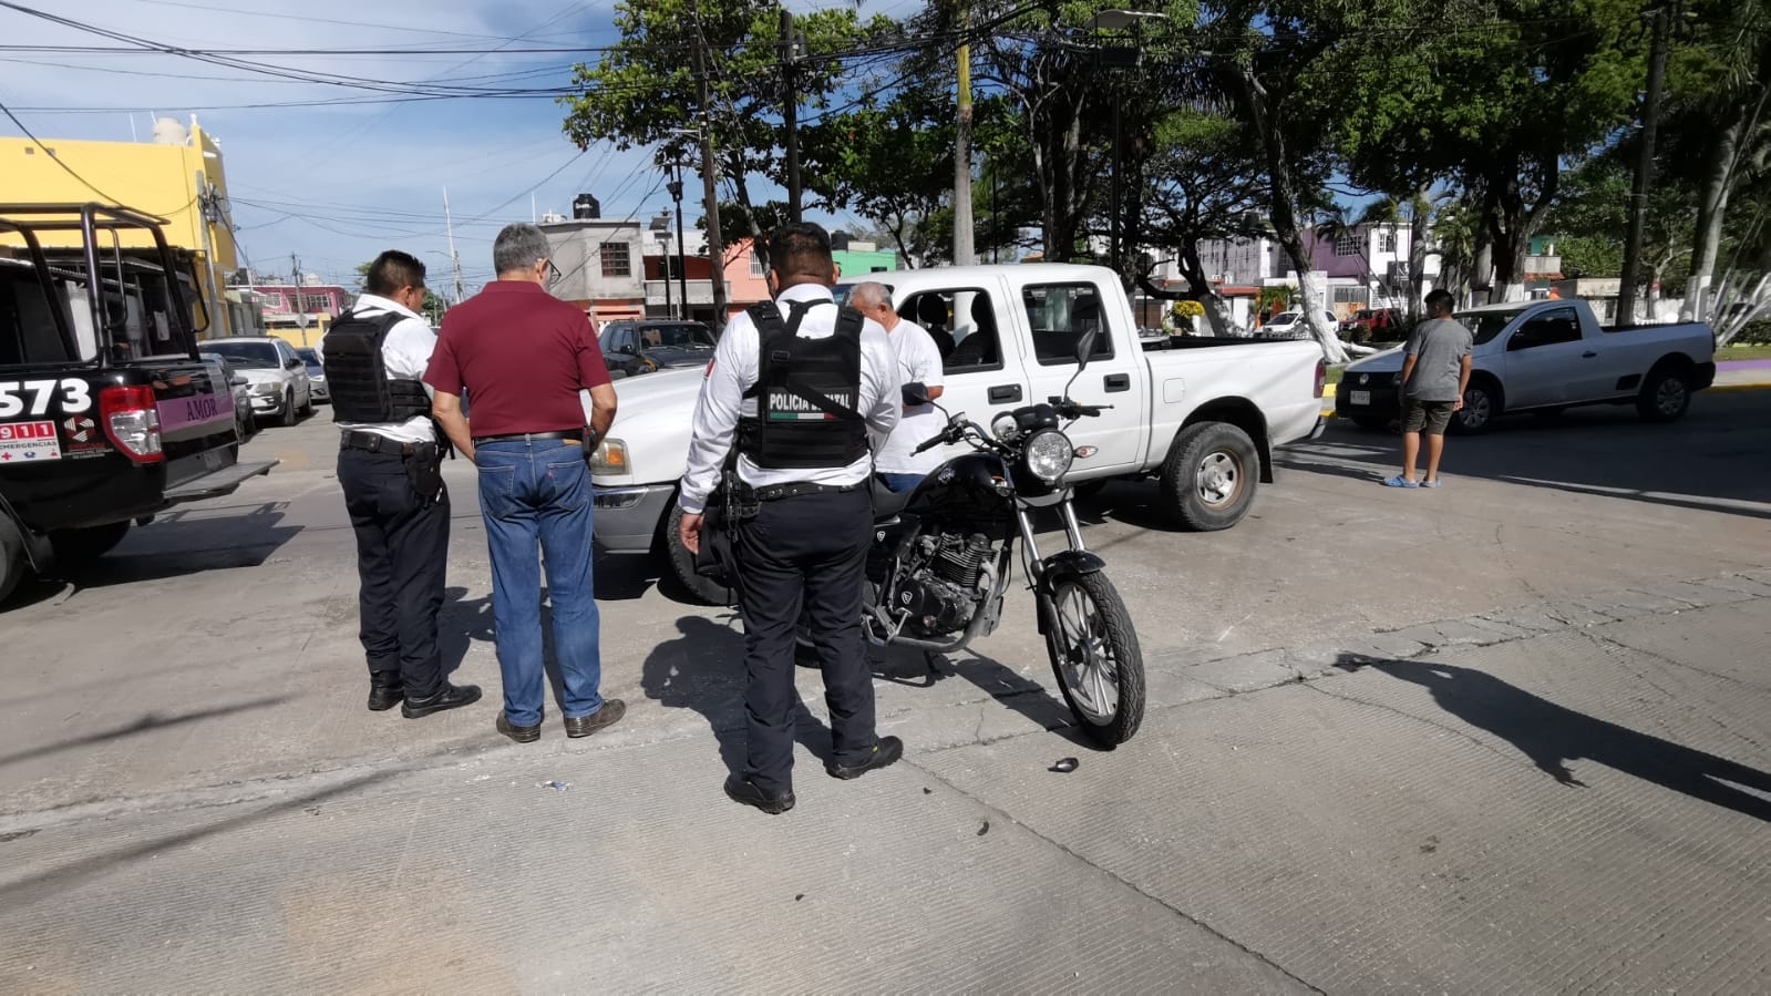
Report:
<svg viewBox="0 0 1771 996"><path fill-rule="evenodd" d="M565 716L602 709L602 650L590 576L592 486L584 448L563 440L512 440L475 448L480 514L492 556L492 624L498 670L505 677L505 716L512 727L542 721L547 673L542 668L542 580L537 542L547 564L554 656L565 684Z"/></svg>

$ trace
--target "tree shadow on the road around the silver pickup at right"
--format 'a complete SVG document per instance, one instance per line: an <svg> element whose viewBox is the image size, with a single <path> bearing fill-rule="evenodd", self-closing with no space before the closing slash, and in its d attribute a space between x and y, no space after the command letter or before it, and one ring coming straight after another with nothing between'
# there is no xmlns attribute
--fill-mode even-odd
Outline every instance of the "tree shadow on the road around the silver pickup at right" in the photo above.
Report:
<svg viewBox="0 0 1771 996"><path fill-rule="evenodd" d="M1481 436L1445 441L1447 487L1459 477L1550 487L1771 519L1771 392L1697 395L1670 425L1633 408L1576 408L1555 418L1502 418ZM1316 441L1277 454L1282 466L1367 479L1401 466L1396 432L1335 420Z"/></svg>

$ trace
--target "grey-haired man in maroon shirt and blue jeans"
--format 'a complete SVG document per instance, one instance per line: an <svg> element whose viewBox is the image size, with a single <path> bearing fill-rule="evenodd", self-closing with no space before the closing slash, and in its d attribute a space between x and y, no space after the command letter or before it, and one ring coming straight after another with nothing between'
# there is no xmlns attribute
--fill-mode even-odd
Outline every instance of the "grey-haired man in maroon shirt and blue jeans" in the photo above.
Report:
<svg viewBox="0 0 1771 996"><path fill-rule="evenodd" d="M602 698L597 599L590 574L592 486L586 454L615 422L615 388L584 312L547 292L547 236L508 225L492 243L498 280L443 315L425 383L455 448L480 468L480 514L492 560L492 622L505 709L498 732L542 734L540 565L547 565L554 656L568 737L588 737L625 712ZM462 415L473 393L473 424ZM590 390L590 427L581 390Z"/></svg>

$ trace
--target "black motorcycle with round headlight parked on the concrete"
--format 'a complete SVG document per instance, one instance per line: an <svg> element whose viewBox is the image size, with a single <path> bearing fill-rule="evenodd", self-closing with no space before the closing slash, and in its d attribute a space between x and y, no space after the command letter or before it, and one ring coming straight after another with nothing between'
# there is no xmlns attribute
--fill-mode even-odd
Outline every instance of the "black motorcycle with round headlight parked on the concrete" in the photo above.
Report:
<svg viewBox="0 0 1771 996"><path fill-rule="evenodd" d="M1093 335L1086 340L1084 362ZM1109 406L1077 404L1068 386L1064 393L1001 413L990 429L965 413L947 415L946 429L916 452L953 443L974 452L940 464L914 491L875 487L862 629L875 645L930 654L990 634L1002 620L1020 537L1022 571L1064 702L1089 739L1112 748L1144 720L1144 656L1107 564L1082 544L1064 480L1075 457L1064 425ZM1054 507L1070 548L1043 555L1032 517Z"/></svg>

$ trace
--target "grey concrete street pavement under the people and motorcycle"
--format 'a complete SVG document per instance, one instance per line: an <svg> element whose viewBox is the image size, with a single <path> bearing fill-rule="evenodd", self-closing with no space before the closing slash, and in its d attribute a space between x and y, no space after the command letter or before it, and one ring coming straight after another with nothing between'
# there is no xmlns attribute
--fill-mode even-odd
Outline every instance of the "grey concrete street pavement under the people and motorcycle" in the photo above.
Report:
<svg viewBox="0 0 1771 996"><path fill-rule="evenodd" d="M877 663L907 755L857 782L800 672L783 817L719 790L740 626L650 558L597 564L627 720L492 730L459 461L445 652L487 698L367 712L328 418L0 613L0 991L1771 989L1771 392L1509 418L1438 491L1337 424L1222 533L1114 484L1137 739L1070 734L1018 594Z"/></svg>

